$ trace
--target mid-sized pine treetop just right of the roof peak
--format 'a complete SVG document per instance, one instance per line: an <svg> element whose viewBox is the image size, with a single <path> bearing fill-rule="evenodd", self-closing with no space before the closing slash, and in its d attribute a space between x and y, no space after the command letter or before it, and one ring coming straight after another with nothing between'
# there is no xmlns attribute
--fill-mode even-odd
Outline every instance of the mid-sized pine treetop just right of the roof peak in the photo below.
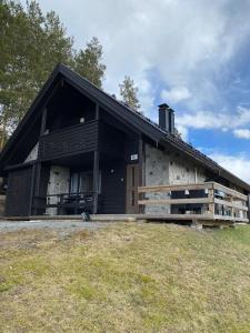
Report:
<svg viewBox="0 0 250 333"><path fill-rule="evenodd" d="M101 60L102 46L99 40L93 37L91 41L87 43L86 49L80 50L77 53L74 58L74 70L98 88L101 88L106 71L106 65L101 62Z"/></svg>

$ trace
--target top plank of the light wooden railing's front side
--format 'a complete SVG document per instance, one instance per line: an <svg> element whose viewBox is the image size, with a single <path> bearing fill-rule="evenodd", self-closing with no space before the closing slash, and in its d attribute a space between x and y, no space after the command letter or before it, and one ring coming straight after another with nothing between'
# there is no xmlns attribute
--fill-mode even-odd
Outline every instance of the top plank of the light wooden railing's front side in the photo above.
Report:
<svg viewBox="0 0 250 333"><path fill-rule="evenodd" d="M170 192L170 191L184 191L184 190L204 190L212 189L212 182L197 183L197 184L172 184L172 185L156 185L156 186L139 186L139 193L151 192Z"/></svg>

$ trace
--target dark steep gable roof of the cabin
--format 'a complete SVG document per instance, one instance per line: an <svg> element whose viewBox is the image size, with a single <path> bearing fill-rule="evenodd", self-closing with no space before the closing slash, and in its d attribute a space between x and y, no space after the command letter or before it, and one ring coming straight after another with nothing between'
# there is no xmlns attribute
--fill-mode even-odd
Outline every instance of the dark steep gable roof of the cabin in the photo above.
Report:
<svg viewBox="0 0 250 333"><path fill-rule="evenodd" d="M6 157L11 151L11 149L14 147L21 133L27 129L30 119L34 117L37 112L39 112L38 110L39 105L41 105L44 102L44 100L48 98L49 90L51 89L52 85L56 84L56 81L59 78L63 78L77 90L84 93L91 100L98 102L104 109L111 110L112 114L119 118L119 120L129 123L137 131L149 137L154 142L160 143L162 145L169 144L170 147L177 149L179 152L182 152L186 155L190 157L191 159L196 160L196 162L209 169L210 171L218 174L219 176L222 176L250 192L250 185L248 183L246 183L244 181L242 181L231 172L227 171L224 168L220 167L217 162L214 162L213 160L211 160L210 158L201 153L199 150L194 149L192 145L188 144L187 142L177 138L170 132L161 129L157 123L152 122L149 118L144 117L140 112L130 109L128 105L118 101L116 98L106 93L104 91L102 91L101 89L99 89L98 87L89 82L87 79L80 77L71 69L69 69L68 67L61 63L54 68L49 79L47 80L41 91L39 92L38 97L33 101L32 105L23 117L22 121L16 129L12 137L7 142L6 147L3 148L0 155L0 168L2 165L2 161L6 159Z"/></svg>

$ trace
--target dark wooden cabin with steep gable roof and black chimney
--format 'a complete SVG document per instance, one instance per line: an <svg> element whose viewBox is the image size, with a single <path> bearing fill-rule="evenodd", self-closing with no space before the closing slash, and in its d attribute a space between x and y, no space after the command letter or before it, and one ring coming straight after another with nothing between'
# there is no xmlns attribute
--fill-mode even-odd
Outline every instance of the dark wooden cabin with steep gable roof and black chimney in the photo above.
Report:
<svg viewBox="0 0 250 333"><path fill-rule="evenodd" d="M204 181L249 192L243 181L174 137L167 104L159 112L157 125L59 64L1 153L6 215L139 213L137 188L151 175L146 147L198 165Z"/></svg>

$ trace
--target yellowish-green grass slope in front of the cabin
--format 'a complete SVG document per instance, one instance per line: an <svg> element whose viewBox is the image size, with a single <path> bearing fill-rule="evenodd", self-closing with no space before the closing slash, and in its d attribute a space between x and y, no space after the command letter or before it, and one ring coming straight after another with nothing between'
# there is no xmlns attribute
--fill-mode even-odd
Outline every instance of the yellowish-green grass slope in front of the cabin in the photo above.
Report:
<svg viewBox="0 0 250 333"><path fill-rule="evenodd" d="M250 332L250 228L0 234L0 332Z"/></svg>

